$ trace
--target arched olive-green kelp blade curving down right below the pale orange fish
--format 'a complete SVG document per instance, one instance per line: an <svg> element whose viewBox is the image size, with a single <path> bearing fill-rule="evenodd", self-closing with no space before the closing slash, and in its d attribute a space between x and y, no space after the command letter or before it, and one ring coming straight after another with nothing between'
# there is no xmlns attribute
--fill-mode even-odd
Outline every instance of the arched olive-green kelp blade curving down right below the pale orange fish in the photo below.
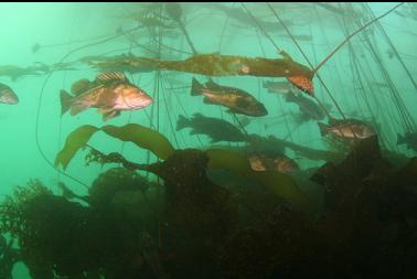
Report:
<svg viewBox="0 0 417 279"><path fill-rule="evenodd" d="M148 149L162 160L165 160L174 151L171 142L164 136L138 124L128 124L121 127L107 125L101 127L101 130L114 138L131 141L140 148Z"/></svg>

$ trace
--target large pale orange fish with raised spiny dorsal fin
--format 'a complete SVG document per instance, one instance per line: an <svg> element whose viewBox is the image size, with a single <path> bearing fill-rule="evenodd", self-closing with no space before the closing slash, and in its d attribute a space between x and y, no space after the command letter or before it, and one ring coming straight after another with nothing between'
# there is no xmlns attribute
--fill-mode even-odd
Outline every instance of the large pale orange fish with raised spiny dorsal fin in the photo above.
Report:
<svg viewBox="0 0 417 279"><path fill-rule="evenodd" d="M146 92L131 84L120 72L99 74L93 82L79 79L73 84L71 93L73 95L61 90L62 115L71 110L71 115L75 116L95 107L103 114L104 121L119 116L121 110L140 109L152 103Z"/></svg>

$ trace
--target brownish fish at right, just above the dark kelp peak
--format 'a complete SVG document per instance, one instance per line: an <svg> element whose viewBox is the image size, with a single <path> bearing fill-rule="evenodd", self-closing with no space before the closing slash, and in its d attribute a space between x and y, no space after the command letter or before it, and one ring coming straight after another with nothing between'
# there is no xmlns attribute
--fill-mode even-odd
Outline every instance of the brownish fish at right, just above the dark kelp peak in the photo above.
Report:
<svg viewBox="0 0 417 279"><path fill-rule="evenodd" d="M338 120L331 118L329 125L318 122L321 136L331 132L345 139L366 139L375 135L372 127L356 119Z"/></svg>

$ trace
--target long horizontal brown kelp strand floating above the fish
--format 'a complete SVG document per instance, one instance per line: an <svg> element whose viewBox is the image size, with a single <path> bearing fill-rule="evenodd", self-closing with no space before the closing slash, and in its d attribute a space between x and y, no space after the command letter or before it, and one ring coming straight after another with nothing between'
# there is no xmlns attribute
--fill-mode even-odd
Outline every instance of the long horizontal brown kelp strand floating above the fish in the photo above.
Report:
<svg viewBox="0 0 417 279"><path fill-rule="evenodd" d="M295 62L287 53L284 58L245 57L222 55L220 53L194 54L183 61L161 61L130 56L116 56L101 61L87 62L101 71L178 71L206 76L265 76L286 77L290 83L313 95L312 78L314 73L307 66Z"/></svg>

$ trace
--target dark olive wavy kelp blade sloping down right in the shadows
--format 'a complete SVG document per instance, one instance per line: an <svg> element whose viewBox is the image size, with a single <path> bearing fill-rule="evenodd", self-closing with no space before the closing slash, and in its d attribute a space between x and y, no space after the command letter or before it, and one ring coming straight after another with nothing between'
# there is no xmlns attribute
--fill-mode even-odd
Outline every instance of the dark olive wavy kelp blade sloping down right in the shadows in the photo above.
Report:
<svg viewBox="0 0 417 279"><path fill-rule="evenodd" d="M223 149L209 149L206 153L210 158L209 168L224 169L242 176L254 178L263 183L272 194L284 197L299 208L308 208L309 201L307 196L289 175L277 171L253 171L245 155L238 152Z"/></svg>

